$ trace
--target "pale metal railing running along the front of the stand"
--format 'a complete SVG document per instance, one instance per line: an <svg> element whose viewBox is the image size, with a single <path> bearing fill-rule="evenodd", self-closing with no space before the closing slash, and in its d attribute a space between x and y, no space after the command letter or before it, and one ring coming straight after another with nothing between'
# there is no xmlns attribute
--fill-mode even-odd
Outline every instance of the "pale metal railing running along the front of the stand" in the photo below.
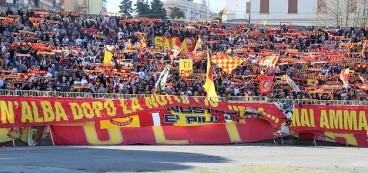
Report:
<svg viewBox="0 0 368 173"><path fill-rule="evenodd" d="M4 90L0 89L0 96L33 96L33 97L66 97L66 98L96 98L96 99L132 99L157 96L152 94L111 94L111 93L88 93L88 92L56 92L36 90ZM196 97L207 99L207 97ZM290 99L272 99L268 97L241 97L229 96L213 98L222 102L233 103L285 103ZM296 99L295 104L331 105L331 106L368 106L368 101L355 100L302 100Z"/></svg>

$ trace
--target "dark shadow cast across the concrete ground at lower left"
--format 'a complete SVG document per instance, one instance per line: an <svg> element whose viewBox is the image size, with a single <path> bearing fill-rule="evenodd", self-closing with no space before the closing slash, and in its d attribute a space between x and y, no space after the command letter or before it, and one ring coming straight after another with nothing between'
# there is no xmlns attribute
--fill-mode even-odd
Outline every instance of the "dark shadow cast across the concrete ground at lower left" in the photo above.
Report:
<svg viewBox="0 0 368 173"><path fill-rule="evenodd" d="M140 146L137 145L137 148ZM6 147L0 148L1 172L156 172L185 171L190 163L230 160L196 151L131 150L124 147Z"/></svg>

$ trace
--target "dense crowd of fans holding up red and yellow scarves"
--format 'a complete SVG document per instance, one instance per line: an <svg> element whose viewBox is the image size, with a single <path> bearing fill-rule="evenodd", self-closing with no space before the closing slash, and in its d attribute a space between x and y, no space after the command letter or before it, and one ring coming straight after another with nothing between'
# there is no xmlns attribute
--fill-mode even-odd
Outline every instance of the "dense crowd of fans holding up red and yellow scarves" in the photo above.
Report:
<svg viewBox="0 0 368 173"><path fill-rule="evenodd" d="M171 51L155 49L155 36L201 38L193 58L193 74L179 76L174 62L167 85L159 94L205 96L207 47L244 59L232 74L213 65L218 96L268 96L322 100L367 100L363 79L368 73L365 41L367 28L236 27L214 21L183 22L127 19L123 15L97 17L77 12L10 9L0 14L0 89L64 92L153 94L158 76L170 61ZM38 19L43 18L41 21ZM138 34L137 34L138 32ZM147 47L139 47L145 33ZM130 43L129 43L130 41ZM136 49L127 49L128 45ZM134 46L135 45L135 46ZM104 52L114 55L104 66ZM289 51L291 50L291 51ZM295 52L296 51L296 52ZM260 66L266 56L280 56L275 67ZM351 71L349 86L342 87L340 73ZM275 75L273 89L259 93L258 76ZM295 92L282 79L288 74L302 92Z"/></svg>

